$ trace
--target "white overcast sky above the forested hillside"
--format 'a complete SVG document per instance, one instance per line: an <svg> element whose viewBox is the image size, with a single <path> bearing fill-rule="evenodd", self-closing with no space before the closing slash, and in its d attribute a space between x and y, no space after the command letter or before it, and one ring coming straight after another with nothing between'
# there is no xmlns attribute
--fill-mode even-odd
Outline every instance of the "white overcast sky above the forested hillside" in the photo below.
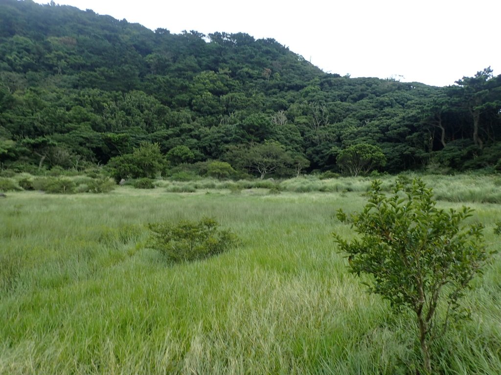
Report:
<svg viewBox="0 0 501 375"><path fill-rule="evenodd" d="M48 3L49 0L36 0ZM501 68L501 0L55 0L154 30L271 37L326 72L453 84Z"/></svg>

